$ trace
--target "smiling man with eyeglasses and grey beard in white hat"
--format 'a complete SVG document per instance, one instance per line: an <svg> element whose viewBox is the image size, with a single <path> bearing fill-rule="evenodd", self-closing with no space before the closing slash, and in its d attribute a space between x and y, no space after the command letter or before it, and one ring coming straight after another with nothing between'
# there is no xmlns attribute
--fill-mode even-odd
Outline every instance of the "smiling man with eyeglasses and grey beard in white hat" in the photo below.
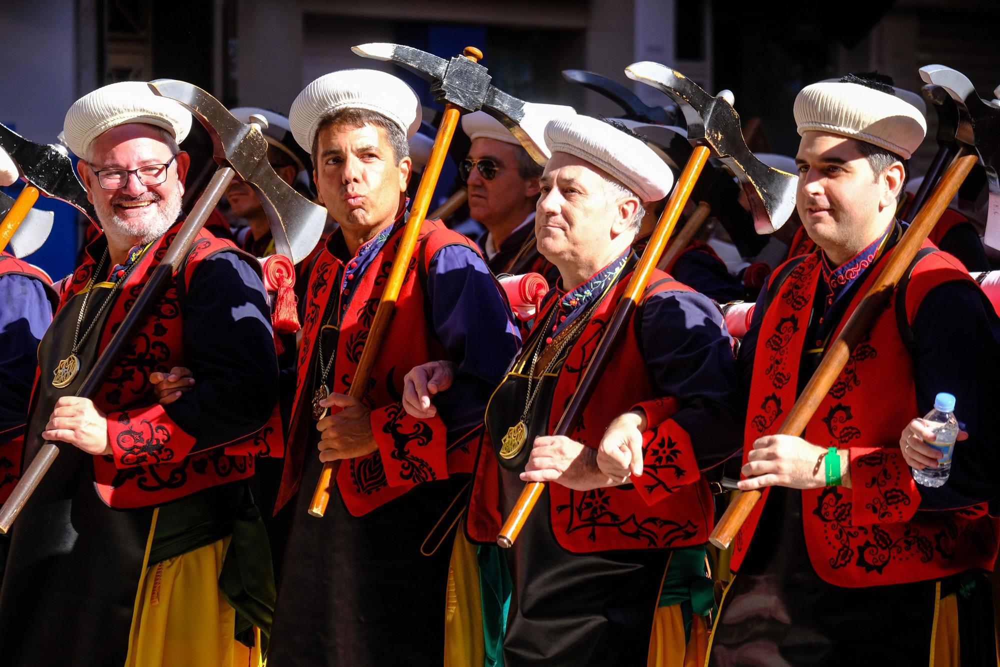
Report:
<svg viewBox="0 0 1000 667"><path fill-rule="evenodd" d="M246 664L235 634L250 642L251 622L269 625L274 583L247 480L278 374L256 261L200 232L94 399L75 397L176 235L190 126L139 82L66 115L103 230L58 283L38 349L24 460L63 444L11 535L5 664ZM164 406L150 376L174 366L198 381Z"/></svg>

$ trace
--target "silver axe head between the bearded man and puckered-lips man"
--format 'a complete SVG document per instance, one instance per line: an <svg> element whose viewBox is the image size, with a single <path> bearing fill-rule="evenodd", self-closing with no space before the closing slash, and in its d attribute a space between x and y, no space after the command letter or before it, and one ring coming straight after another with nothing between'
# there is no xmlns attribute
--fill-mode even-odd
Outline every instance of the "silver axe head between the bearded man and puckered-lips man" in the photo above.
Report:
<svg viewBox="0 0 1000 667"><path fill-rule="evenodd" d="M254 125L241 123L207 92L185 81L157 79L149 83L157 95L186 107L212 137L220 166L232 167L260 199L271 224L275 249L293 263L302 261L319 242L326 209L285 183L267 161L267 140Z"/></svg>

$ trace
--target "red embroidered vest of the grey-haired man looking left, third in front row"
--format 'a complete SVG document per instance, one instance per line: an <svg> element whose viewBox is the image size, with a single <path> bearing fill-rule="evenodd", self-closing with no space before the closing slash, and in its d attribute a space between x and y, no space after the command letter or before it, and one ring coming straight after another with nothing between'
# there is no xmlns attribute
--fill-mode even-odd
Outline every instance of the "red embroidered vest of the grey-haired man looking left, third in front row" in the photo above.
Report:
<svg viewBox="0 0 1000 667"><path fill-rule="evenodd" d="M628 285L628 275L623 276L605 296L570 349L569 356L559 370L549 414L549 433L555 431L562 417L563 407L569 404L577 384L590 363L604 329L611 318L618 299ZM655 271L643 296L666 291L692 292L691 288L677 282L662 271ZM544 326L547 315L556 307L558 299L550 298L547 307L535 319L535 326ZM649 376L643 372L646 364L639 351L636 337L636 309L626 323L627 333L618 343L593 396L587 402L580 425L569 434L573 440L596 448L608 425L640 403L663 399L656 396ZM676 412L670 409L670 398L662 403L667 409L661 414ZM489 408L487 408L489 410ZM588 553L616 549L662 549L703 544L712 530L713 503L708 483L695 466L693 470L674 470L680 457L672 438L690 439L680 427L671 437L658 438L647 445L644 472L636 478L636 485L645 485L644 492L658 494L669 482L681 477L696 479L691 483L669 486L669 493L652 504L644 500L636 488L609 487L593 491L575 491L562 484L548 485L550 497L549 521L556 541L567 551ZM662 450L662 466L651 462L649 448ZM690 462L689 463L693 463ZM473 489L470 494L466 530L477 542L494 542L502 525L499 510L499 487L496 453L484 439L476 460ZM662 476L659 474L662 469ZM687 481L687 480L685 480Z"/></svg>

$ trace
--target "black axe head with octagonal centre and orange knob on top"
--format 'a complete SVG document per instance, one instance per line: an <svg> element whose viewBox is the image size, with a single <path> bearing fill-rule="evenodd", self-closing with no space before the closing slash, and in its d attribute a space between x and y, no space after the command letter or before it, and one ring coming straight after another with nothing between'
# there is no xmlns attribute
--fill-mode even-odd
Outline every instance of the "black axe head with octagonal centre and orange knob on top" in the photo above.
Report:
<svg viewBox="0 0 1000 667"><path fill-rule="evenodd" d="M548 158L527 132L521 129L524 101L490 84L489 70L465 56L451 60L402 44L371 42L351 47L363 58L381 60L408 69L431 82L431 93L438 102L448 102L464 111L485 111L510 130L535 162Z"/></svg>

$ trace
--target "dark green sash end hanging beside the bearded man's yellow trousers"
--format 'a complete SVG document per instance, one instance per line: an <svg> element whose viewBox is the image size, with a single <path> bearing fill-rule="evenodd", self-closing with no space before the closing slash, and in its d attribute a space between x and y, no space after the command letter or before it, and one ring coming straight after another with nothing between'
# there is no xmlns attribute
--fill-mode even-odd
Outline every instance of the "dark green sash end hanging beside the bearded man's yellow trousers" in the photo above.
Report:
<svg viewBox="0 0 1000 667"><path fill-rule="evenodd" d="M257 626L261 653L266 654L278 596L267 528L249 490L233 521L233 536L219 574L219 590L236 610L236 639L253 646L253 628Z"/></svg>

